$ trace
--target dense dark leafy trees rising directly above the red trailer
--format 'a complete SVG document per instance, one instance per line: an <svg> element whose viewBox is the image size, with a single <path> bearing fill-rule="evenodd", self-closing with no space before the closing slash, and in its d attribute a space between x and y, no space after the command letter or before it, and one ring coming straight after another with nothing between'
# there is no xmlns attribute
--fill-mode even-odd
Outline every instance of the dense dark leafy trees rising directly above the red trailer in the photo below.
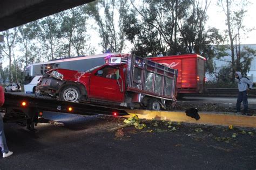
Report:
<svg viewBox="0 0 256 170"><path fill-rule="evenodd" d="M206 6L199 1L131 1L129 22L125 35L133 44L132 53L140 56L177 55L197 53L203 55L206 70L214 70L215 49L212 44L223 42L219 30L205 29Z"/></svg>

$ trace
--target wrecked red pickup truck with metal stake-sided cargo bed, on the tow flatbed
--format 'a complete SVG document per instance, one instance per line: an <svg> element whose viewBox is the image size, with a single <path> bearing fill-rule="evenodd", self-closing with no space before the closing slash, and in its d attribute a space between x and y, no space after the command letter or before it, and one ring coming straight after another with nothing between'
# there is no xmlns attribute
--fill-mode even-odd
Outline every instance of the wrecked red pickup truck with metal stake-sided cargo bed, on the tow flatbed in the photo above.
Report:
<svg viewBox="0 0 256 170"><path fill-rule="evenodd" d="M109 55L105 61L86 72L52 69L36 90L63 101L150 110L166 109L176 102L177 69L129 54Z"/></svg>

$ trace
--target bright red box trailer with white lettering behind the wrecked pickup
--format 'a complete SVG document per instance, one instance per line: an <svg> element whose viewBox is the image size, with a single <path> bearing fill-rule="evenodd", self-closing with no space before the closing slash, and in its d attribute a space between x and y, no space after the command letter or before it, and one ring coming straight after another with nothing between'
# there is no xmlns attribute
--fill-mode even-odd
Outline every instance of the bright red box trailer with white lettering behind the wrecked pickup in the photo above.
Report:
<svg viewBox="0 0 256 170"><path fill-rule="evenodd" d="M148 58L168 67L178 69L177 88L179 94L203 93L205 85L206 59L198 54L171 55Z"/></svg>

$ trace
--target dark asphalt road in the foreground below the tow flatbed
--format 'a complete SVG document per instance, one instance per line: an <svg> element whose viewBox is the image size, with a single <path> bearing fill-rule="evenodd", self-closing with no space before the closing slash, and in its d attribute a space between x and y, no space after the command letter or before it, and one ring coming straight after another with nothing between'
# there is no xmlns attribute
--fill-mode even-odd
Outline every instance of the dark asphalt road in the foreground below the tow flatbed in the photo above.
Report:
<svg viewBox="0 0 256 170"><path fill-rule="evenodd" d="M120 118L50 113L45 118L65 126L39 124L39 131L33 133L17 124L5 124L14 155L0 158L0 169L256 168L255 129L181 123L174 124L178 130L171 132L164 123L153 126L147 121L146 129L125 128L124 137L116 137L107 130L123 124ZM233 133L238 137L231 138Z"/></svg>

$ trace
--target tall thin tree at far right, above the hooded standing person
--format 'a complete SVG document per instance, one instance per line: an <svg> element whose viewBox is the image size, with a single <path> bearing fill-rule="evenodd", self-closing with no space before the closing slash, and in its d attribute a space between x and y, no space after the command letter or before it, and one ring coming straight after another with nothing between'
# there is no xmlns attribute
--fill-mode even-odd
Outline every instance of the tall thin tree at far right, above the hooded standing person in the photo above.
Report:
<svg viewBox="0 0 256 170"><path fill-rule="evenodd" d="M233 0L218 0L218 4L223 8L223 12L226 16L227 29L225 31L229 44L223 48L223 51L226 51L226 53L223 52L224 55L219 55L218 57L231 57L232 77L234 77L236 70L246 74L250 69L252 56L255 56L255 51L248 47L242 47L240 40L241 33L248 31L242 23L245 13L247 12L245 8L248 2L247 0L242 0L239 3ZM234 82L234 79L232 79L232 82Z"/></svg>

